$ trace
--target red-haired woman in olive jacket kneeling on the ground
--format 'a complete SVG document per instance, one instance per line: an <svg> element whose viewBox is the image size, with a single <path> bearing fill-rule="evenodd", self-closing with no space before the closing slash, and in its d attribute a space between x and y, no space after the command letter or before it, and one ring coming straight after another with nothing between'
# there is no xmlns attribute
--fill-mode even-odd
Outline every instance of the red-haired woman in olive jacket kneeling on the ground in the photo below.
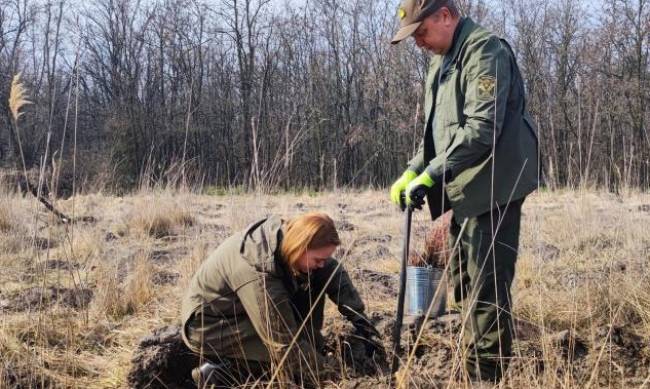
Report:
<svg viewBox="0 0 650 389"><path fill-rule="evenodd" d="M183 339L210 361L193 371L194 380L234 386L282 368L284 378L313 382L322 368L323 290L359 335L377 335L350 277L331 258L340 243L323 213L268 217L226 239L183 298Z"/></svg>

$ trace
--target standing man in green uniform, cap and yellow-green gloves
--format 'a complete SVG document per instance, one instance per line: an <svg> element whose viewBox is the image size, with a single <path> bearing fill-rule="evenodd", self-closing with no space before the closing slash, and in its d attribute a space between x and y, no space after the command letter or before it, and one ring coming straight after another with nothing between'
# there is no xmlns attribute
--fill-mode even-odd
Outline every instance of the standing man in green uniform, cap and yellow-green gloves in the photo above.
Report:
<svg viewBox="0 0 650 389"><path fill-rule="evenodd" d="M452 209L450 278L465 323L467 372L496 382L511 356L510 286L521 206L540 183L538 142L507 42L461 17L454 0L403 0L392 40L433 52L424 139L391 200L432 217ZM461 227L465 224L464 229ZM453 247L453 246L452 246Z"/></svg>

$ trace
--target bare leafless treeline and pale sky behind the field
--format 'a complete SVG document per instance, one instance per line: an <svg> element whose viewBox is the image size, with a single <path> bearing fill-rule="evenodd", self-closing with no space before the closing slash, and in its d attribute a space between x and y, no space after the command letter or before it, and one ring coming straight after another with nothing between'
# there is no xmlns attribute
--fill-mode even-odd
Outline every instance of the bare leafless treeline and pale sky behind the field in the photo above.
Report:
<svg viewBox="0 0 650 389"><path fill-rule="evenodd" d="M466 0L513 45L549 185L647 188L650 0ZM422 133L428 57L391 47L397 1L0 0L0 160L59 191L143 177L384 186ZM592 9L594 8L594 9ZM74 162L74 163L73 163ZM66 178L67 177L67 178Z"/></svg>

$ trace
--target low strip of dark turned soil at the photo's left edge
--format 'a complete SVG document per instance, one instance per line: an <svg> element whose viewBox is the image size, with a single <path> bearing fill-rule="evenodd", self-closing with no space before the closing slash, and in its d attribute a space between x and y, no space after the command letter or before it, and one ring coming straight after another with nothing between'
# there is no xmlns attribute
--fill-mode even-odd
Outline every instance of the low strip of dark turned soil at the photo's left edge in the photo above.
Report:
<svg viewBox="0 0 650 389"><path fill-rule="evenodd" d="M88 306L92 298L93 291L90 289L33 287L8 297L0 296L0 311L22 312L37 309L39 306L49 307L55 303L71 308L83 308Z"/></svg>

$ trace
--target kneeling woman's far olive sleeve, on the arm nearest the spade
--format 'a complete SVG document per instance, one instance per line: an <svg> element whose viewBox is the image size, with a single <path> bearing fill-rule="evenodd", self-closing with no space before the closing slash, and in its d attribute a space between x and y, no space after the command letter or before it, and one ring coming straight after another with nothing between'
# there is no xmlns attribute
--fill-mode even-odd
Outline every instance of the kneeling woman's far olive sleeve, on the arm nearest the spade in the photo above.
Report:
<svg viewBox="0 0 650 389"><path fill-rule="evenodd" d="M352 323L360 319L359 315L364 315L365 306L359 292L352 284L352 280L345 271L343 265L339 266L339 262L330 258L325 263L325 274L332 275L332 281L327 285L325 292L327 297L336 304L339 312L345 316ZM325 280L326 281L326 280Z"/></svg>

